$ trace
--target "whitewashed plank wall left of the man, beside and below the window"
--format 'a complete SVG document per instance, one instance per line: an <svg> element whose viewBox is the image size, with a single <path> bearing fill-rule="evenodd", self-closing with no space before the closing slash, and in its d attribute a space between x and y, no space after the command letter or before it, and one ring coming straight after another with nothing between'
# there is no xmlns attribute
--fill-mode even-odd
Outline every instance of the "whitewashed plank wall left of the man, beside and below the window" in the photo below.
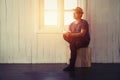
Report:
<svg viewBox="0 0 120 80"><path fill-rule="evenodd" d="M65 63L62 34L37 34L34 0L0 0L0 63Z"/></svg>

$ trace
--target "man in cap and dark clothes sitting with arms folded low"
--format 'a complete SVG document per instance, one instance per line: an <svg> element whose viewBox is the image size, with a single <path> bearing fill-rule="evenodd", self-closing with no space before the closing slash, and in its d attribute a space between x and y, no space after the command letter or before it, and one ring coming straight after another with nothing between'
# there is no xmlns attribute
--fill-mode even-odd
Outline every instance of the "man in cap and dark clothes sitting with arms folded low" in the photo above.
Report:
<svg viewBox="0 0 120 80"><path fill-rule="evenodd" d="M73 71L78 48L88 47L90 42L89 25L82 19L83 10L80 7L74 9L75 21L69 25L69 31L63 34L63 38L69 42L71 50L70 64L64 71Z"/></svg>

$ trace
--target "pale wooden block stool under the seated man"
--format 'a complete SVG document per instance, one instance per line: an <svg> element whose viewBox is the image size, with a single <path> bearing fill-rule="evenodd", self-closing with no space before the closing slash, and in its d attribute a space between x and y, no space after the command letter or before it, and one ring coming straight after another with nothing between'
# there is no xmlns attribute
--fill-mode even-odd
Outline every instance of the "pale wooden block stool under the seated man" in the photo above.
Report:
<svg viewBox="0 0 120 80"><path fill-rule="evenodd" d="M75 67L91 67L91 49L89 47L77 50Z"/></svg>

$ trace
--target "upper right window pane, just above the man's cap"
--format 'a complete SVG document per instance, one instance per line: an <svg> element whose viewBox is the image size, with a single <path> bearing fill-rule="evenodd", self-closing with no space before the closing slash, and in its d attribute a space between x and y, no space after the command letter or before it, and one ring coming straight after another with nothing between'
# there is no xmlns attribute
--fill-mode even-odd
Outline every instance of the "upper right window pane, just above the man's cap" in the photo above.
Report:
<svg viewBox="0 0 120 80"><path fill-rule="evenodd" d="M64 0L64 9L74 9L77 6L77 0Z"/></svg>

